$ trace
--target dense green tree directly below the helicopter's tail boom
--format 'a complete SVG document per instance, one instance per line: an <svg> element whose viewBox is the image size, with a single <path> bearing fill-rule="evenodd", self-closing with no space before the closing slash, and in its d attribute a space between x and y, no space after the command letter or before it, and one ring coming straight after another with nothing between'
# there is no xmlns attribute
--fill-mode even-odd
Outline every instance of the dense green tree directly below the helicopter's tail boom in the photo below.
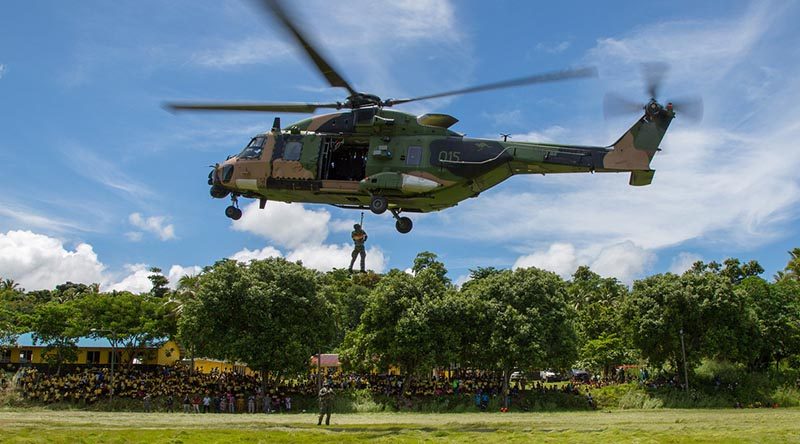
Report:
<svg viewBox="0 0 800 444"><path fill-rule="evenodd" d="M483 368L503 372L503 394L515 369L567 368L576 358L576 335L566 285L537 268L504 270L464 292L482 299L488 331L476 335L485 350Z"/></svg>

